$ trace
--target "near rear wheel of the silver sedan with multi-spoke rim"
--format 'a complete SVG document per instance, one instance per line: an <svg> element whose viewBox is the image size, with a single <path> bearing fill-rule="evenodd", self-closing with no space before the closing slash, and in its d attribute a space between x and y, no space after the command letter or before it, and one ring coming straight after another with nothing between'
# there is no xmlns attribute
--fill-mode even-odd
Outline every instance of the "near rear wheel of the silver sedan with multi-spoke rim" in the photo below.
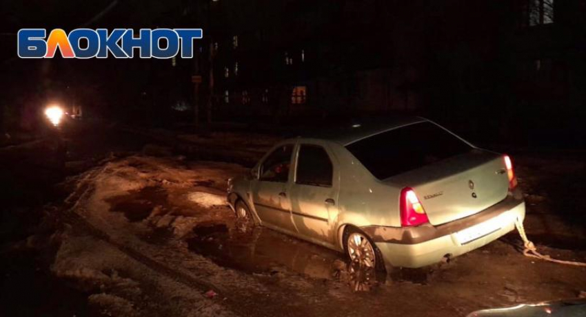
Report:
<svg viewBox="0 0 586 317"><path fill-rule="evenodd" d="M385 270L381 252L364 232L350 227L344 231L343 239L344 249L353 264Z"/></svg>

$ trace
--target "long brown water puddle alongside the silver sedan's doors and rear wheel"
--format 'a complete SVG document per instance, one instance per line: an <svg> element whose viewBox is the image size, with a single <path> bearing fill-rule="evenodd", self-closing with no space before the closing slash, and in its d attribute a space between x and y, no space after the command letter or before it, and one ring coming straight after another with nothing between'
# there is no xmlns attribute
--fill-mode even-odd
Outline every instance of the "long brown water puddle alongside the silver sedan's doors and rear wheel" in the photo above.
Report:
<svg viewBox="0 0 586 317"><path fill-rule="evenodd" d="M214 263L256 274L295 272L315 279L347 282L368 291L385 281L372 267L342 261L343 254L259 226L236 223L201 225L188 240L190 250Z"/></svg>

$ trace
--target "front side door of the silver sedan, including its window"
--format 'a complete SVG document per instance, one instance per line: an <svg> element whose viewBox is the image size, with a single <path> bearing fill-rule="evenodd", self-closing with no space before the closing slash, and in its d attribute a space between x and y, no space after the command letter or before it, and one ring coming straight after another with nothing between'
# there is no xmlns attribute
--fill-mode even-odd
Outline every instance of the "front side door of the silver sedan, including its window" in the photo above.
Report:
<svg viewBox="0 0 586 317"><path fill-rule="evenodd" d="M277 146L259 166L259 179L252 182L254 209L263 223L295 232L291 220L290 166L294 144Z"/></svg>

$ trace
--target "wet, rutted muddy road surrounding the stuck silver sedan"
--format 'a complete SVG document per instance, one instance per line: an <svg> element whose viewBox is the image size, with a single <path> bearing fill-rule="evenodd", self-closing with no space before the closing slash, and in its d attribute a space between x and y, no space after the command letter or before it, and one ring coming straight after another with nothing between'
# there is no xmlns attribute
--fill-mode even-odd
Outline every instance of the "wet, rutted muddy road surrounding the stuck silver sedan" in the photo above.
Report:
<svg viewBox="0 0 586 317"><path fill-rule="evenodd" d="M529 238L545 254L585 261L580 203L554 211L567 193L549 184L584 167L543 160L517 160ZM67 195L43 206L40 229L4 254L42 254L46 267L31 270L57 283L49 288L63 289L70 308L49 307L47 316L465 316L586 290L585 268L524 257L516 232L421 270L348 267L343 254L236 221L226 180L243 173L173 151L107 157L68 177Z"/></svg>

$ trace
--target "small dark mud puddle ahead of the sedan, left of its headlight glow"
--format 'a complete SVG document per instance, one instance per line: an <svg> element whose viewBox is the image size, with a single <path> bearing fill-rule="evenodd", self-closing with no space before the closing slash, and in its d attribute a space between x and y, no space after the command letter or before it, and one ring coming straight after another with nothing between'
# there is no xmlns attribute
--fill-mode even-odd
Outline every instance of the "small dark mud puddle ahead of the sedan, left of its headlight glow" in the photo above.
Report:
<svg viewBox="0 0 586 317"><path fill-rule="evenodd" d="M106 202L110 204L110 211L123 212L128 221L135 222L148 217L154 207L165 205L167 195L163 188L152 186L106 199Z"/></svg>

